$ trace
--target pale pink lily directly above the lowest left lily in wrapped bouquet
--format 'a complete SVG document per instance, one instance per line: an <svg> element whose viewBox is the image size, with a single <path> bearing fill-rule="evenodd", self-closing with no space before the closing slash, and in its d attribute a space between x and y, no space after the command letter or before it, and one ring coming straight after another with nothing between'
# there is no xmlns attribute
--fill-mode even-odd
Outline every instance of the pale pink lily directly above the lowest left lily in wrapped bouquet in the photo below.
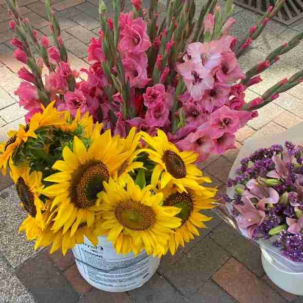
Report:
<svg viewBox="0 0 303 303"><path fill-rule="evenodd" d="M272 204L276 204L279 201L280 196L274 188L261 186L255 179L249 180L246 187L248 190L244 191L243 196L250 199L264 199L265 203Z"/></svg>

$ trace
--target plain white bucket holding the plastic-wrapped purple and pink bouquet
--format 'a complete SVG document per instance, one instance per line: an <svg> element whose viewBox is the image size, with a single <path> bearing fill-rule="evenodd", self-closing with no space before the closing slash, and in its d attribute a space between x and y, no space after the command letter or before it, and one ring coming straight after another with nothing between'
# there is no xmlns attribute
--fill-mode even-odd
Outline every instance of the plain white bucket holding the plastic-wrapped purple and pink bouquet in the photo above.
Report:
<svg viewBox="0 0 303 303"><path fill-rule="evenodd" d="M284 268L282 264L268 251L262 249L262 265L268 277L279 288L303 296L303 273Z"/></svg>

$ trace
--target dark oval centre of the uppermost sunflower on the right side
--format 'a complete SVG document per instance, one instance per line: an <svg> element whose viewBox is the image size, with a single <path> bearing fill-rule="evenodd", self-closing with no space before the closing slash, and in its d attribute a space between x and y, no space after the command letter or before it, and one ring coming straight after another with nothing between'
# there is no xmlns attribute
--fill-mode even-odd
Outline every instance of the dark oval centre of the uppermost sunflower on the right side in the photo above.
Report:
<svg viewBox="0 0 303 303"><path fill-rule="evenodd" d="M166 150L164 152L163 162L166 165L167 172L176 179L185 178L186 166L182 158L173 150Z"/></svg>

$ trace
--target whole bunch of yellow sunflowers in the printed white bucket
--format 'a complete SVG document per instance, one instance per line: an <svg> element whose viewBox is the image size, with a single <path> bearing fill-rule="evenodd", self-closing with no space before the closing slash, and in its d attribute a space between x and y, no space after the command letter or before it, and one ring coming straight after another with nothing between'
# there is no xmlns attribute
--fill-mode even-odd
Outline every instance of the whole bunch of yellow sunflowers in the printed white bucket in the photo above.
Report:
<svg viewBox="0 0 303 303"><path fill-rule="evenodd" d="M9 169L27 218L20 226L35 249L65 255L84 237L106 236L118 254L145 250L175 254L212 218L216 189L195 165L194 151L179 151L162 130L151 137L131 128L122 138L75 118L54 102L0 145L0 168Z"/></svg>

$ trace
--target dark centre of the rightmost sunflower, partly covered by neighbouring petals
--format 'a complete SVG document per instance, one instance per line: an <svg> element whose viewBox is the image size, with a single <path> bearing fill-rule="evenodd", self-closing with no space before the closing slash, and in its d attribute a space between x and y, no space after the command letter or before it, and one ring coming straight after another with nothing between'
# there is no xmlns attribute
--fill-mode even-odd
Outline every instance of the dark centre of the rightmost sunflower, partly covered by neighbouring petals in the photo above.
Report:
<svg viewBox="0 0 303 303"><path fill-rule="evenodd" d="M180 213L176 217L182 220L183 225L194 211L194 201L190 194L187 193L176 193L172 194L166 198L163 205L165 206L175 206L181 209Z"/></svg>

